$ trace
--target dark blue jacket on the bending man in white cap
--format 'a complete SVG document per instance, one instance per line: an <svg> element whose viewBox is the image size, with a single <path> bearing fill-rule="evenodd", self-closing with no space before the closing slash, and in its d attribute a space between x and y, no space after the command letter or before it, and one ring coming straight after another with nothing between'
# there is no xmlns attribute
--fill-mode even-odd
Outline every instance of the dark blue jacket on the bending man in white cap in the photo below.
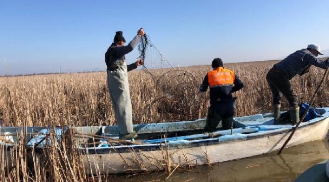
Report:
<svg viewBox="0 0 329 182"><path fill-rule="evenodd" d="M306 73L311 65L325 69L329 66L329 61L321 61L307 49L302 49L276 63L273 68L282 70L291 80L297 74L303 75Z"/></svg>

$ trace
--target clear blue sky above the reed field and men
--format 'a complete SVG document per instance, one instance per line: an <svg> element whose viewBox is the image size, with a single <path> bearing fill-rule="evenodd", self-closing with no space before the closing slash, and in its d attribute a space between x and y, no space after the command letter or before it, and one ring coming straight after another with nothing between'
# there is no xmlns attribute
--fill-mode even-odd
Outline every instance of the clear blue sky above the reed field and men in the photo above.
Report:
<svg viewBox="0 0 329 182"><path fill-rule="evenodd" d="M105 70L115 31L130 41L140 27L179 66L280 59L309 43L329 49L328 0L11 0L0 2L0 22L0 75Z"/></svg>

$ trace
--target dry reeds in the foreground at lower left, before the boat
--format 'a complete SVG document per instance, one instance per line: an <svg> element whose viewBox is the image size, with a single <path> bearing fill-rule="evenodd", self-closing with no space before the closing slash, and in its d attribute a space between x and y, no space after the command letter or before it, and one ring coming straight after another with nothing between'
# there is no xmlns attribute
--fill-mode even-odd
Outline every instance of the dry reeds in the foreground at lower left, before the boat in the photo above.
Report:
<svg viewBox="0 0 329 182"><path fill-rule="evenodd" d="M31 134L31 133L29 133ZM72 128L61 135L61 140L58 140L58 135L55 130L50 130L50 134L46 136L46 145L44 148L26 148L26 135L21 132L17 133L20 138L15 147L6 150L4 145L0 144L0 181L112 181L117 178L122 178L120 175L109 175L101 173L104 167L98 163L95 155L84 155L81 157L78 150L75 147L84 145L98 145L101 138L99 135L84 135L75 133ZM72 137L73 136L73 137ZM94 141L89 143L88 141ZM107 138L109 145L119 144L121 146L127 145L127 141L120 141L111 138ZM121 142L124 142L120 144ZM51 145L48 145L51 143ZM130 143L130 142L128 142ZM113 148L116 150L115 148ZM144 167L144 162L140 161L140 153L144 158L151 161L152 156L146 156L141 151L134 151L130 149L132 153L131 161L126 161L124 157L118 153L117 157L120 157L127 166L126 171L134 173L136 170L139 172L149 172L150 169ZM156 160L153 165L153 170L166 170L167 178L174 172L178 167L184 166L173 166L170 163L170 156L172 155L168 151L167 145L161 148L163 160ZM87 160L88 163L84 162ZM187 158L185 159L187 161ZM137 164L138 169L133 168ZM94 167L92 167L94 166ZM110 166L109 166L110 167ZM174 170L172 171L172 168ZM93 171L94 175L90 175L89 172ZM97 175L95 175L95 172Z"/></svg>

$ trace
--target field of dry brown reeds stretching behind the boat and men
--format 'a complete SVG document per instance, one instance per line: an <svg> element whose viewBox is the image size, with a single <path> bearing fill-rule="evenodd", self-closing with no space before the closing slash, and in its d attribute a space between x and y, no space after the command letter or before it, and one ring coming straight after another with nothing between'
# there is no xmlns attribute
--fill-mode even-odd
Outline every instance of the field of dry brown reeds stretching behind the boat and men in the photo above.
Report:
<svg viewBox="0 0 329 182"><path fill-rule="evenodd" d="M244 83L244 88L235 93L236 116L271 111L271 93L265 75L277 61L244 62L226 64L235 70ZM210 66L181 68L193 75L197 84ZM324 73L312 67L310 72L292 80L295 92L304 101L309 101ZM193 120L205 117L208 105L206 96L197 92L198 87L187 88L185 94L193 93L197 99L192 109L198 112L182 113L159 111L158 101L163 97L159 85L141 70L129 73L134 123ZM175 84L176 80L171 80ZM178 82L178 81L177 81ZM168 83L169 84L169 83ZM319 90L314 106L328 106L327 81ZM181 90L177 90L181 92ZM194 96L191 94L192 96ZM283 109L287 103L283 99ZM188 104L187 104L188 105ZM191 107L191 106L190 106ZM4 126L99 126L116 124L106 83L106 73L73 73L60 75L35 75L0 78L0 120Z"/></svg>

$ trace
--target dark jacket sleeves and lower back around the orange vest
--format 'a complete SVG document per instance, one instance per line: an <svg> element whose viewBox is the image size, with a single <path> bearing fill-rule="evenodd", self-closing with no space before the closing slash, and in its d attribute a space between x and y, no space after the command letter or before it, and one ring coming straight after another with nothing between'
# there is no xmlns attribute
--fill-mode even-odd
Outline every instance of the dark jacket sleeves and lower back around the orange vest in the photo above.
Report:
<svg viewBox="0 0 329 182"><path fill-rule="evenodd" d="M235 79L233 85L221 85L211 87L210 92L210 103L215 102L231 103L233 102L232 93L238 91L243 87L242 81L234 74ZM200 92L206 92L209 87L208 74L204 76L202 84L200 85Z"/></svg>

